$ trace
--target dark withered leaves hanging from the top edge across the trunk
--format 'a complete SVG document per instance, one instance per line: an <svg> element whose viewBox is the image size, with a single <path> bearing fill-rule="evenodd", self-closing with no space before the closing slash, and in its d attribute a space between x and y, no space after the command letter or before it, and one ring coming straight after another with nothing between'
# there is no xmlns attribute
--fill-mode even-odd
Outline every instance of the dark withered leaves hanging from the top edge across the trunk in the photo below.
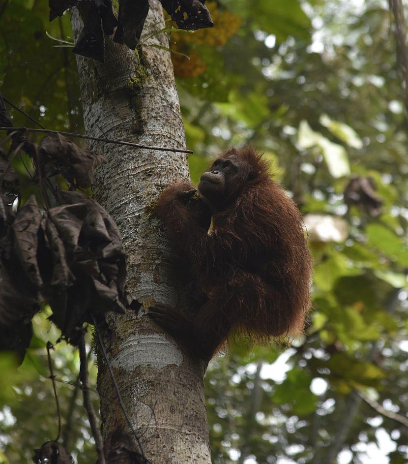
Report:
<svg viewBox="0 0 408 464"><path fill-rule="evenodd" d="M163 8L180 29L194 31L211 28L212 22L205 0L160 0ZM148 0L118 0L116 18L112 0L49 0L50 21L70 6L78 6L84 27L73 52L99 62L105 61L105 35L134 50L142 35L149 11ZM116 28L116 31L115 31Z"/></svg>

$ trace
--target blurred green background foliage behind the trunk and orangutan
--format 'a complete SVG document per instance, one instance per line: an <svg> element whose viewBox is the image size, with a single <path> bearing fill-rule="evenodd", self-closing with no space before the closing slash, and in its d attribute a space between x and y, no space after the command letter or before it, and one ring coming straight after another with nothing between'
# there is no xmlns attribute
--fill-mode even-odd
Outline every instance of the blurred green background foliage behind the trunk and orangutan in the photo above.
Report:
<svg viewBox="0 0 408 464"><path fill-rule="evenodd" d="M213 29L171 35L192 179L221 150L254 145L305 215L315 259L302 339L249 351L238 340L210 363L213 462L407 463L407 112L388 2L207 4ZM82 132L71 47L68 14L49 23L46 1L1 2L2 93L48 128ZM350 196L354 178L370 178L380 213ZM46 310L34 322L18 371L0 357L0 463L29 462L57 433L45 343L58 333ZM93 463L78 355L60 343L53 363L63 438Z"/></svg>

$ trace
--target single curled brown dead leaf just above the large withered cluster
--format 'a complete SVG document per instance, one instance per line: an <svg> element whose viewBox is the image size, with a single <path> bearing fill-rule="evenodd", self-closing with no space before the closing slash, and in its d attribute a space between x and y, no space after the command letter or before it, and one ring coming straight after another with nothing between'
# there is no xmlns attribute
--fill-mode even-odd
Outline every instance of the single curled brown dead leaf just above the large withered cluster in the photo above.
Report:
<svg viewBox="0 0 408 464"><path fill-rule="evenodd" d="M68 182L78 187L90 187L96 168L106 163L105 156L79 148L58 133L46 135L38 149L47 177L62 174Z"/></svg>

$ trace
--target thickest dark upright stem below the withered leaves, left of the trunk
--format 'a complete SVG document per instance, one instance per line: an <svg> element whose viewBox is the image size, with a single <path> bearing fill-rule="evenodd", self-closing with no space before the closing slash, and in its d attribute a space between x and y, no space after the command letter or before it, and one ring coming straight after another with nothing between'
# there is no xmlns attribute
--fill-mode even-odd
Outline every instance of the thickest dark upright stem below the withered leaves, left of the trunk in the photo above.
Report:
<svg viewBox="0 0 408 464"><path fill-rule="evenodd" d="M92 401L89 395L89 376L88 376L88 360L87 360L87 350L85 348L85 338L84 334L81 335L81 338L78 343L79 350L79 359L80 359L80 368L79 373L82 383L82 393L84 396L84 407L87 410L90 429L92 431L93 438L95 439L96 451L98 452L99 464L105 464L105 454L103 451L103 438L101 430L98 426L98 421L96 418L95 411L93 409Z"/></svg>

